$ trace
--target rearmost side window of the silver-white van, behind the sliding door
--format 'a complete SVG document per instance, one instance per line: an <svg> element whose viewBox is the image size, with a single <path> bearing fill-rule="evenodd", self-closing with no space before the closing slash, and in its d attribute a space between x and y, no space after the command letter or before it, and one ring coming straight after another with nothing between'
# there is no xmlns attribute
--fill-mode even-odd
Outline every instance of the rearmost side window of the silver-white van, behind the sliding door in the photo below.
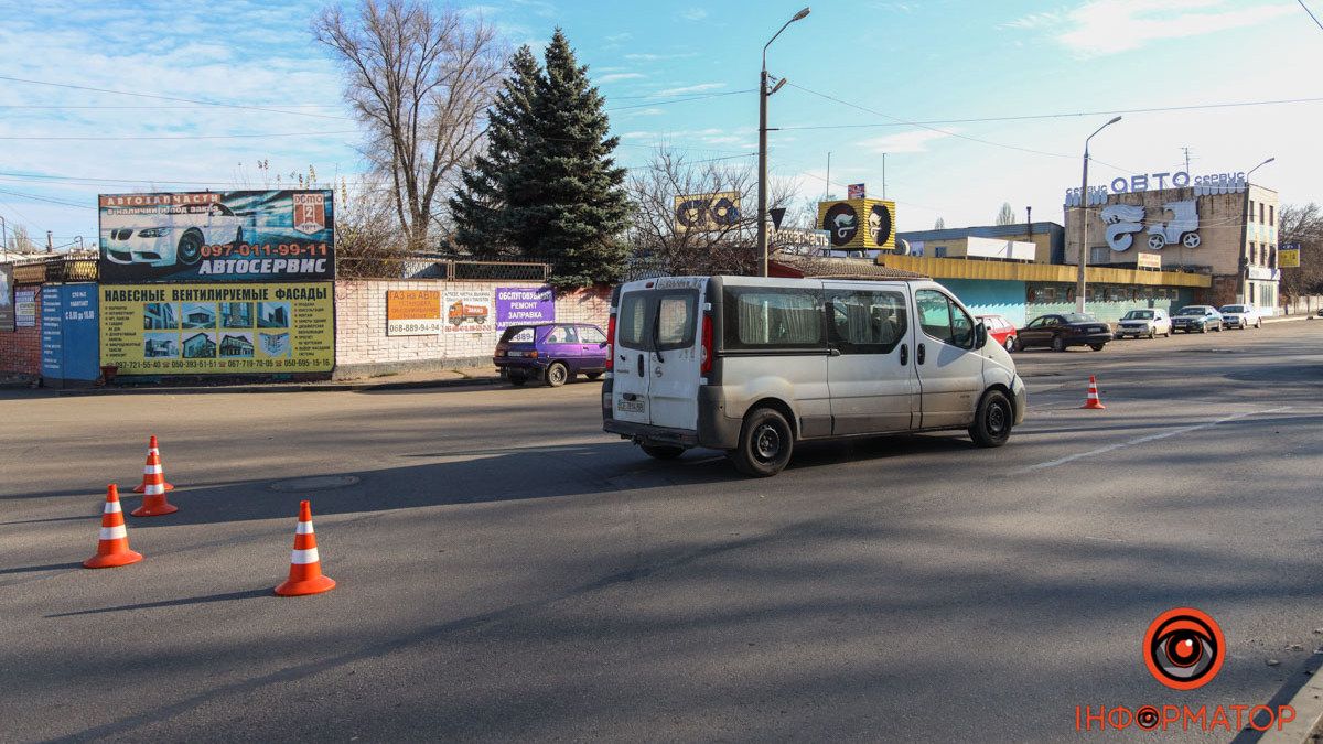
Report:
<svg viewBox="0 0 1323 744"><path fill-rule="evenodd" d="M729 349L823 348L823 301L814 290L726 287Z"/></svg>

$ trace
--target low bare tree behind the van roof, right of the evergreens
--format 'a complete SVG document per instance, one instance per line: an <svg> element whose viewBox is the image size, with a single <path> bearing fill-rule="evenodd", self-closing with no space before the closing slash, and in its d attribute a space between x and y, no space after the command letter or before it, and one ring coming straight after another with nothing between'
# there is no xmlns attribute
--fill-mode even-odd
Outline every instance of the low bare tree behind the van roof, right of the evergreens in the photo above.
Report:
<svg viewBox="0 0 1323 744"><path fill-rule="evenodd" d="M628 238L648 267L667 274L759 274L758 181L751 163L695 160L660 148L630 175L632 204ZM676 197L734 192L738 216L703 229L677 225ZM769 201L790 203L792 189L773 181ZM774 245L774 244L773 244Z"/></svg>

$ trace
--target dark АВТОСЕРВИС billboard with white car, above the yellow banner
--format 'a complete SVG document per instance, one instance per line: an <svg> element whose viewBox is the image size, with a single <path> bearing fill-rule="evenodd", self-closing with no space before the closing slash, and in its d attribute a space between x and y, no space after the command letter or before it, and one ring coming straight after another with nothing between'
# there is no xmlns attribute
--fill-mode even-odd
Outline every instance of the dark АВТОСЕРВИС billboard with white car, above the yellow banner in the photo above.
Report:
<svg viewBox="0 0 1323 744"><path fill-rule="evenodd" d="M102 195L101 281L333 279L332 197L329 189Z"/></svg>

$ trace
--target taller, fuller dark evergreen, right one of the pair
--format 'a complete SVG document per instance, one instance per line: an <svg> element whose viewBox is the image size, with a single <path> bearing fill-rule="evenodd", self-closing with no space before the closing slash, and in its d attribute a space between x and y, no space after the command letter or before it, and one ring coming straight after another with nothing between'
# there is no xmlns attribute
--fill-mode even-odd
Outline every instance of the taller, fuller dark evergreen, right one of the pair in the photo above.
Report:
<svg viewBox="0 0 1323 744"><path fill-rule="evenodd" d="M532 152L516 171L505 224L527 253L554 263L561 286L615 279L627 254L624 168L611 156L619 138L607 136L603 102L556 29L533 97Z"/></svg>

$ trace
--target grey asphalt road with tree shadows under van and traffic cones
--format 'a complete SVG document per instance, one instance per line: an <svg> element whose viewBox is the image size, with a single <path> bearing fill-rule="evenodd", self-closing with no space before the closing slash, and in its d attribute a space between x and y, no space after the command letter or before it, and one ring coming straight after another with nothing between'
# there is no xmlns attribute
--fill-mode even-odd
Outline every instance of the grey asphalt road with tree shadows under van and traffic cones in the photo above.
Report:
<svg viewBox="0 0 1323 744"><path fill-rule="evenodd" d="M1017 361L1003 449L814 445L762 481L650 461L589 383L5 393L0 740L1060 740L1081 704L1299 684L1323 322ZM152 433L180 511L79 568ZM278 598L300 498L340 585ZM1180 605L1229 646L1189 692L1140 655Z"/></svg>

